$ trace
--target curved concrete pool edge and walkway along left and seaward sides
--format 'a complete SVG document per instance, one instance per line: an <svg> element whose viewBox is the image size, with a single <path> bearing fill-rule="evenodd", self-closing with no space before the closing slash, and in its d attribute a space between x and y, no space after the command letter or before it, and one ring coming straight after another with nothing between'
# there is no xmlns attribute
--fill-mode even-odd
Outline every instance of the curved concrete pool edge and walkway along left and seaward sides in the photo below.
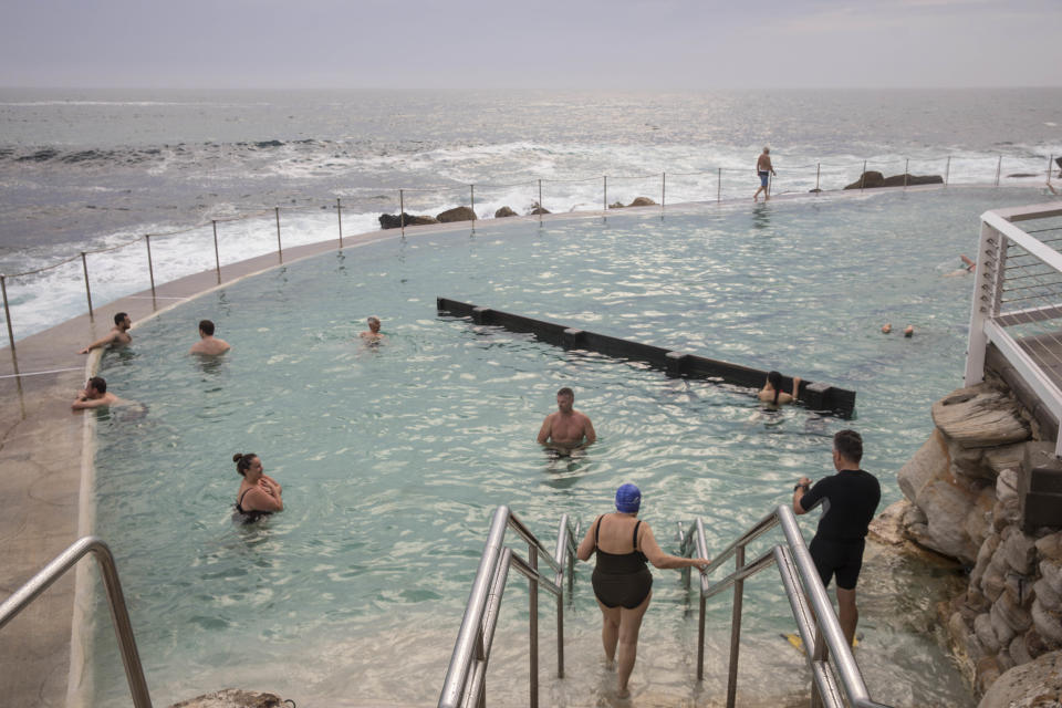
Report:
<svg viewBox="0 0 1062 708"><path fill-rule="evenodd" d="M951 187L986 187L951 185ZM1008 185L1040 189L1040 185ZM945 190L946 185L912 186L906 190ZM995 189L993 186L987 188ZM872 197L895 194L899 188L833 190L819 194L779 195L772 201L818 200L829 197ZM760 202L763 205L764 202ZM510 217L444 225L367 231L337 239L288 248L282 261L274 251L221 268L226 278L218 282L215 270L202 271L150 289L125 295L95 308L93 321L82 314L15 343L0 348L0 392L18 405L0 408L0 592L13 593L77 538L93 529L91 504L94 478L95 416L74 413L70 403L83 382L98 367L101 351L87 360L76 354L85 343L111 329L114 312L124 311L136 324L187 304L205 294L233 285L299 261L347 248L360 248L386 240L427 237L437 233L469 231L477 226L543 223L572 220L607 219L608 216L666 216L711 207L749 206L748 200L696 201L666 207L634 207L621 210L575 211L543 216ZM168 303L159 306L159 300ZM189 343L195 333L189 332ZM121 396L121 387L115 386ZM79 564L74 574L66 574L32 603L10 625L0 631L0 667L4 684L0 690L13 705L66 706L79 702L88 680L84 675L85 650L83 622L75 616L88 604L79 600L76 586L91 587L95 570L90 563ZM121 565L118 572L121 573ZM86 592L86 591L85 591ZM84 594L81 595L84 597ZM83 620L83 617L81 618ZM135 631L135 627L134 627Z"/></svg>

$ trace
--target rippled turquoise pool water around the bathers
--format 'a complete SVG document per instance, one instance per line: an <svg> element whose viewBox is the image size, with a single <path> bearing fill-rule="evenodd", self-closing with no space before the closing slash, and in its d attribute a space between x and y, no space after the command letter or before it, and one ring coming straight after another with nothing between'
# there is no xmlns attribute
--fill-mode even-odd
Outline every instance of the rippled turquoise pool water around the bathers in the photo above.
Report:
<svg viewBox="0 0 1062 708"><path fill-rule="evenodd" d="M633 481L665 545L695 516L720 545L785 502L794 479L831 471L830 437L850 425L883 508L899 499L895 472L928 435L931 402L961 384L971 281L948 273L975 250L982 211L1037 198L908 191L410 233L142 323L134 346L103 364L138 405L101 417L96 513L156 705L233 685L300 706L434 704L501 503L552 544L562 512L586 522ZM439 317L438 295L853 388L856 419L763 414L750 392ZM356 336L368 314L383 320L378 347ZM212 364L186 354L201 317L233 345ZM884 322L916 334L883 335ZM551 460L534 435L565 385L600 441ZM285 511L256 527L229 519L237 451L258 452L284 487ZM554 705L593 705L604 690L590 571L580 566L566 617L564 681L550 677L552 620L542 623ZM969 705L925 632L948 573L884 554L866 573L857 658L872 695ZM696 602L678 573L654 574L635 694L689 698ZM778 637L791 620L775 577L747 587L746 687L766 671L800 675ZM525 696L523 596L513 576L488 679L501 705ZM705 696L725 680L729 613L729 602L711 606ZM97 615L93 700L124 701Z"/></svg>

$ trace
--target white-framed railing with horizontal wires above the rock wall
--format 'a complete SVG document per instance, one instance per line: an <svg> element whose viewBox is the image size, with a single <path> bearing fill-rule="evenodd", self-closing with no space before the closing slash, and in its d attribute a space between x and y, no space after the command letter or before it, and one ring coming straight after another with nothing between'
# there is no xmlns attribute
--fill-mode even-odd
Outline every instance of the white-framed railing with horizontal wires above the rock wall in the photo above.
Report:
<svg viewBox="0 0 1062 708"><path fill-rule="evenodd" d="M981 215L966 354L967 386L985 378L993 344L1060 421L1062 456L1062 207L997 209ZM1017 222L1040 220L1037 229Z"/></svg>

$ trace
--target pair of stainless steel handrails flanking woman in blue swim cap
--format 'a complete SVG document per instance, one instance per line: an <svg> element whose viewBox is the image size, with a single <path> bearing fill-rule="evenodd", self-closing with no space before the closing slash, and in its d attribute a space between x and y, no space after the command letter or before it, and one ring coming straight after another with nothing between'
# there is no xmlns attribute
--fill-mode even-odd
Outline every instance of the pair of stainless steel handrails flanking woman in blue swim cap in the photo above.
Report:
<svg viewBox="0 0 1062 708"><path fill-rule="evenodd" d="M751 562L746 562L746 548L775 525L781 525L783 542ZM528 543L528 560L521 559L503 545L506 529L512 528ZM498 507L494 511L487 545L479 561L479 570L472 582L465 617L458 632L454 654L446 673L439 708L485 708L487 705L486 673L490 660L490 647L498 623L498 608L504 592L509 569L516 568L530 583L530 674L529 705L539 705L539 611L538 590L544 587L556 597L556 656L558 678L564 677L564 583L565 566L569 572L569 593L573 586L575 538L579 524L573 529L568 514L561 518L558 530L556 552L551 556L538 538L509 510ZM698 518L684 529L678 524L681 554L708 558L704 522ZM555 572L551 580L538 568L539 558L546 561ZM735 571L720 581L711 583L709 575L735 559ZM871 699L860 667L852 656L852 647L845 641L841 624L819 577L796 517L788 504L781 504L742 533L708 564L700 575L700 611L697 634L697 681L704 679L705 618L709 598L732 587L730 623L730 662L727 680L727 708L733 708L737 697L738 656L741 646L741 613L743 607L745 580L762 570L777 565L782 590L789 598L796 629L805 647L804 657L812 671L810 705L812 708L888 708ZM683 571L689 587L691 573Z"/></svg>

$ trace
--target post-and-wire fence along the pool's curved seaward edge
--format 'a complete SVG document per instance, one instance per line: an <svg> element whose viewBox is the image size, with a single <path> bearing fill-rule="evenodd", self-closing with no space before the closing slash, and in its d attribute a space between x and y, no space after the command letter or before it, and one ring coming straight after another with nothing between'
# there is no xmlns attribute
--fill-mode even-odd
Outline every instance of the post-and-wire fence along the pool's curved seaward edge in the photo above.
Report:
<svg viewBox="0 0 1062 708"><path fill-rule="evenodd" d="M924 178L912 175L912 169L917 171L943 171L943 175L933 175L929 184L937 184L947 187L960 175L976 175L975 184L983 184L983 176L987 174L986 160L995 162L992 184L999 186L1003 173L1003 157L996 158L952 158L945 155L936 158L919 158L912 160L908 158L875 158L861 163L830 164L814 163L806 165L785 166L781 175L772 175L769 181L767 195L792 195L792 194L814 194L820 195L823 191L836 191L842 189L870 189L877 186L878 178L876 173L902 170L899 175L889 178L889 184L884 186L908 187L916 184L926 184ZM1051 187L1052 166L1054 156L1050 156L1047 170L1040 173L1045 176L1047 185ZM824 167L826 173L824 173ZM943 169L941 169L943 168ZM777 167L775 167L777 170ZM850 181L843 177L844 174L852 174L857 170L860 177L855 181ZM1022 174L1020 177L1039 177L1040 174ZM847 183L847 184L844 184ZM970 184L970 183L966 183ZM551 190L551 185L565 185L563 190ZM488 208L485 215L489 218L493 205L506 204L506 207L493 211L493 217L506 216L538 216L542 219L545 214L573 212L573 211L596 211L608 212L613 209L625 208L629 206L657 206L664 209L667 204L684 202L712 202L721 204L736 199L746 199L752 191L754 185L754 170L750 168L737 167L714 167L699 171L675 171L675 173L652 173L641 175L601 175L573 178L534 178L520 181L485 181L467 185L438 185L421 186L398 189L383 187L360 187L354 191L364 194L376 194L383 197L373 205L381 207L384 215L379 221L383 228L398 228L403 236L407 226L419 226L425 223L436 223L439 221L469 220L472 229L476 228L477 220L483 218L477 215L477 205L481 208L486 205ZM1053 190L1053 188L1052 188ZM562 192L559 195L558 192ZM389 195L389 196L387 196ZM300 204L303 201L305 204ZM458 207L447 206L458 202ZM11 324L11 309L8 300L8 283L21 280L22 285L32 288L34 284L43 282L42 275L51 273L60 280L70 281L75 275L62 269L71 267L77 260L81 260L80 279L84 282L85 299L87 302L87 314L90 321L95 320L95 309L92 303L92 283L106 280L107 273L97 275L95 266L90 256L100 256L104 253L116 253L128 249L128 254L123 254L108 262L108 270L117 269L144 269L147 271L147 282L150 285L153 298L156 295L156 282L169 282L184 275L200 272L202 268L196 268L194 259L188 257L188 244L184 243L181 252L167 252L165 248L159 248L159 241L176 236L196 235L196 240L204 242L205 250L209 252L212 247L214 269L217 273L217 282L222 282L222 267L246 260L249 251L254 250L256 254L273 252L278 262L283 264L284 259L284 218L296 215L321 215L333 212L335 220L331 227L317 227L319 236L314 242L326 242L336 238L339 248L343 248L343 198L330 198L325 201L312 201L311 199L292 200L290 206L275 206L272 208L253 209L243 214L228 216L218 216L209 221L204 221L194 226L178 229L145 233L143 237L126 240L119 243L104 246L96 249L88 249L76 253L70 258L15 273L0 274L0 293L3 295L3 316L8 329L8 340L12 353L14 352L14 335ZM518 210L508 207L508 204L520 205ZM457 211L464 207L468 211L461 210L459 214L446 216L447 211ZM438 216L427 216L425 212L442 210ZM420 212L420 214L418 214ZM363 214L363 212L360 212ZM396 216L392 216L396 215ZM444 217L440 219L439 217ZM305 223L300 225L300 236L305 229ZM331 232L325 232L331 231ZM228 239L227 236L237 233L239 238ZM267 236L268 235L268 236ZM266 247L266 242L269 246ZM299 239L300 243L305 243L304 238ZM261 248L249 249L248 242L259 242ZM273 247L275 242L275 247ZM133 250L139 252L139 249L132 247L139 243L144 244L144 251L138 256L132 256ZM264 249L264 250L263 250ZM171 249L173 250L173 249ZM197 249L197 254L202 251ZM143 260L142 260L143 259ZM134 261L139 261L134 262ZM90 268L90 266L93 266ZM162 268L159 268L162 266ZM54 271L54 272L52 272ZM143 285L142 285L143 287ZM124 290L127 290L124 289ZM125 294L128 294L127 292ZM121 295L117 295L121 296Z"/></svg>

